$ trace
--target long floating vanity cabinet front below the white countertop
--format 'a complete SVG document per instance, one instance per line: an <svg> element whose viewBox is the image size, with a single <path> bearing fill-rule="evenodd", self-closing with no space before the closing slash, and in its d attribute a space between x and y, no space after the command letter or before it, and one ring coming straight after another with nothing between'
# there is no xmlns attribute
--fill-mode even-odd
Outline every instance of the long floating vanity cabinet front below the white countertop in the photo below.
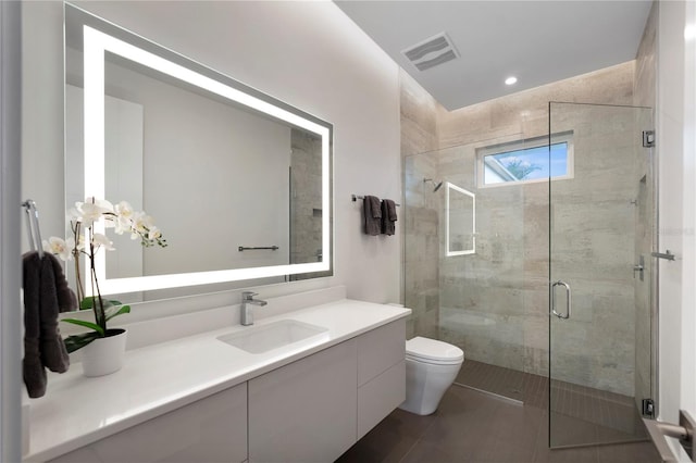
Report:
<svg viewBox="0 0 696 463"><path fill-rule="evenodd" d="M406 399L405 318L51 462L330 462Z"/></svg>

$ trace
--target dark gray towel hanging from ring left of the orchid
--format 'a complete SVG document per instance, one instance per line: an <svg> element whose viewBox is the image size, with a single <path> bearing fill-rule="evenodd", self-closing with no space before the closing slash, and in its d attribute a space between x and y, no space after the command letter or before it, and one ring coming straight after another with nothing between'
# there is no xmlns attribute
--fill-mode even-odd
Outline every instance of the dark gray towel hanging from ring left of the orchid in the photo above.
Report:
<svg viewBox="0 0 696 463"><path fill-rule="evenodd" d="M23 376L29 397L46 393L46 371L64 373L70 356L58 327L59 312L75 310L75 293L67 287L54 255L36 251L23 256L24 360Z"/></svg>

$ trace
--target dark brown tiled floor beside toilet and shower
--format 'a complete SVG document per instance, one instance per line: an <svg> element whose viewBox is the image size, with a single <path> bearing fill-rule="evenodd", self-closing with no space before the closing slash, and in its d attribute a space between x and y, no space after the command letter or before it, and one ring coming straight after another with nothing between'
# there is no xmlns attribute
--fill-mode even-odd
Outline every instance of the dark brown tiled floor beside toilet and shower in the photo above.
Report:
<svg viewBox="0 0 696 463"><path fill-rule="evenodd" d="M500 375L506 372L494 373ZM496 375L492 374L490 377L495 378ZM470 387L452 386L445 393L438 410L432 415L419 416L397 409L344 453L337 462L657 463L661 461L652 443L645 440L549 450L546 378L543 380L539 378L530 375L526 383L525 378L522 378L521 383L513 383L522 385L519 396L523 396L524 403ZM566 384L560 384L558 387L559 390L570 391ZM580 392L582 392L581 396L587 396L594 393L594 390L581 389ZM617 400L613 396L608 396L608 399L610 400L605 401ZM624 406L622 400L620 405ZM616 425L611 420L617 418L611 416L613 415L607 414L606 420L602 418L605 422L597 423L597 420L593 422L564 413L555 413L555 439L558 445L573 445L582 439L601 441L601 439L621 440L642 437L639 434L626 434L616 429L616 426L607 426ZM619 420L619 427L621 425L624 423Z"/></svg>

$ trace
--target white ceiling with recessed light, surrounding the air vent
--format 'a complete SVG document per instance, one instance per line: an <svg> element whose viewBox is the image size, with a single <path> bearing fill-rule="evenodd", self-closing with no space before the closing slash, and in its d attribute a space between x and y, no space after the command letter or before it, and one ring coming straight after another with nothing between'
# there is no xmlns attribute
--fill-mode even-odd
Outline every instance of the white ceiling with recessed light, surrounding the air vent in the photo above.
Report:
<svg viewBox="0 0 696 463"><path fill-rule="evenodd" d="M633 60L650 0L340 1L336 4L453 110ZM402 50L447 33L460 58L418 71ZM506 77L518 83L506 86Z"/></svg>

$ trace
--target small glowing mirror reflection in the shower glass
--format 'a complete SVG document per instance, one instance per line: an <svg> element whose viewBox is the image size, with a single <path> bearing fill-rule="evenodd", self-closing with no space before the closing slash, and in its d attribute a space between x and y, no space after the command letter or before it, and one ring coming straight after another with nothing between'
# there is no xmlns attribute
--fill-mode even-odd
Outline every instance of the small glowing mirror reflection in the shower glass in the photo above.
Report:
<svg viewBox="0 0 696 463"><path fill-rule="evenodd" d="M476 253L476 196L446 184L445 216L447 256Z"/></svg>

